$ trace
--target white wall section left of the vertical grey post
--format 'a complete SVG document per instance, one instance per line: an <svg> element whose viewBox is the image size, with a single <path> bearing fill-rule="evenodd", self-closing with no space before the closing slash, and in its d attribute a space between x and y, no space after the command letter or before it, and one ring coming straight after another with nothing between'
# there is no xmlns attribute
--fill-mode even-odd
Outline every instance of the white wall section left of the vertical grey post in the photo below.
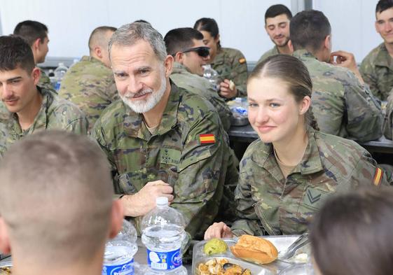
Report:
<svg viewBox="0 0 393 275"><path fill-rule="evenodd" d="M266 9L291 0L0 0L2 34L11 34L18 22L36 20L49 28L48 57L88 54L88 37L95 27L144 19L163 36L170 29L193 27L200 17L219 24L221 45L241 50L256 61L273 47L263 29Z"/></svg>

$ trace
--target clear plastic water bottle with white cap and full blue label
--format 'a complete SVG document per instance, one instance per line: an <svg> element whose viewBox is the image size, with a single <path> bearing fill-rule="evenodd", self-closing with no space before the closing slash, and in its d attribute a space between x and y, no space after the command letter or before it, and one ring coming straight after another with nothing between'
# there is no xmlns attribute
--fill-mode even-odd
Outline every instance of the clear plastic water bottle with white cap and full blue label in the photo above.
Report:
<svg viewBox="0 0 393 275"><path fill-rule="evenodd" d="M157 207L142 219L142 243L147 248L147 274L186 275L181 243L186 237L184 218L168 205L167 197L156 199Z"/></svg>

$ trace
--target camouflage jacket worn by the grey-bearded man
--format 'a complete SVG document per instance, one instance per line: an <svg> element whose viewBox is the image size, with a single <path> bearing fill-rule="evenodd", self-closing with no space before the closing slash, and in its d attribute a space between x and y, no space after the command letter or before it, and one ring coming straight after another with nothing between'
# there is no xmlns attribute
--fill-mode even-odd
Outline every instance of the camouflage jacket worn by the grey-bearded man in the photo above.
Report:
<svg viewBox="0 0 393 275"><path fill-rule="evenodd" d="M142 116L118 100L92 129L113 167L116 194L135 194L149 181L174 188L171 206L183 213L186 231L203 234L219 211L230 148L219 115L206 99L172 83L163 118L151 134ZM137 225L139 218L135 219ZM203 235L202 235L203 236Z"/></svg>

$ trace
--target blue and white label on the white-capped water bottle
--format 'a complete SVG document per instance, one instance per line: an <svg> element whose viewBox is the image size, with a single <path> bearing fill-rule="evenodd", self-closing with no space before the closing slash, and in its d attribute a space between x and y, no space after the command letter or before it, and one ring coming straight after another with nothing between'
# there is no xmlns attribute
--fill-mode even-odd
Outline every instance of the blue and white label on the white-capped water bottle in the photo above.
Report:
<svg viewBox="0 0 393 275"><path fill-rule="evenodd" d="M152 269L171 270L183 265L180 248L175 251L156 252L147 249L147 264Z"/></svg>

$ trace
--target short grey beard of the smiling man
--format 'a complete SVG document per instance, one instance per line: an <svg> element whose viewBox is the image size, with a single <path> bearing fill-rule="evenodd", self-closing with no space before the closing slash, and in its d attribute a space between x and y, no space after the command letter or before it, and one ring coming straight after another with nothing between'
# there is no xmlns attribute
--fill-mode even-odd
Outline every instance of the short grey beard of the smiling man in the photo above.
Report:
<svg viewBox="0 0 393 275"><path fill-rule="evenodd" d="M127 106L131 108L132 111L135 113L146 113L149 112L152 108L154 108L158 102L163 98L165 94L165 90L167 90L167 78L165 77L164 68L160 73L161 77L161 87L158 91L154 92L153 90L145 89L142 92L149 92L151 93L146 100L139 100L137 102L132 102L131 100L127 99L127 94L120 95L120 98L123 100Z"/></svg>

